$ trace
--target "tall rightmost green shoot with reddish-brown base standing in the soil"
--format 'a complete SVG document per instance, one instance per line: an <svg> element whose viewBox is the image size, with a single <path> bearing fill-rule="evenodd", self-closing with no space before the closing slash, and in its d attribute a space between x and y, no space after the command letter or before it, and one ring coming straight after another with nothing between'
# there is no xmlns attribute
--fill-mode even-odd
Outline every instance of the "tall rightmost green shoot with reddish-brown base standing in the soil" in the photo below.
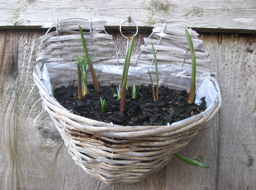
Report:
<svg viewBox="0 0 256 190"><path fill-rule="evenodd" d="M195 91L196 91L196 54L195 54L195 49L194 49L194 45L193 45L191 36L188 33L187 28L185 28L185 32L186 32L186 36L188 38L188 45L189 45L189 49L190 49L191 62L192 62L192 75L191 75L190 91L189 91L189 95L188 95L188 102L192 103L194 100Z"/></svg>

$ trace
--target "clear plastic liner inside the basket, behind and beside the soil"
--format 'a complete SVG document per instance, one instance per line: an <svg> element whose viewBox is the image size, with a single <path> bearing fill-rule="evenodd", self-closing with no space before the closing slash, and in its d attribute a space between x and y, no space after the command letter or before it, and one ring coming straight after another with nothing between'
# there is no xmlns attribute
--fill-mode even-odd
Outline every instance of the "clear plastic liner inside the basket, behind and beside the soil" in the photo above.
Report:
<svg viewBox="0 0 256 190"><path fill-rule="evenodd" d="M96 71L97 77L101 76L103 78L102 82L109 80L112 81L111 83L120 84L121 81L118 78L121 77L117 77L116 75L123 74L123 66L93 64L93 67ZM148 69L151 72L153 83L155 83L155 66L150 65L130 67L128 71L127 83L143 84L145 80L148 80ZM76 64L63 65L55 62L45 63L42 69L42 77L48 92L52 95L52 88L67 85L70 81L77 79L76 71ZM159 85L164 85L166 82L170 83L170 81L172 81L172 87L174 87L174 89L186 89L188 91L190 87L190 80L188 80L188 77L191 78L191 71L183 67L173 64L158 65L158 75ZM90 81L91 77L89 75L88 82L90 83ZM214 88L211 81L211 76L209 74L196 74L196 104L202 103L200 99L205 97L207 107L205 111L210 110L217 97L217 93L218 92Z"/></svg>

